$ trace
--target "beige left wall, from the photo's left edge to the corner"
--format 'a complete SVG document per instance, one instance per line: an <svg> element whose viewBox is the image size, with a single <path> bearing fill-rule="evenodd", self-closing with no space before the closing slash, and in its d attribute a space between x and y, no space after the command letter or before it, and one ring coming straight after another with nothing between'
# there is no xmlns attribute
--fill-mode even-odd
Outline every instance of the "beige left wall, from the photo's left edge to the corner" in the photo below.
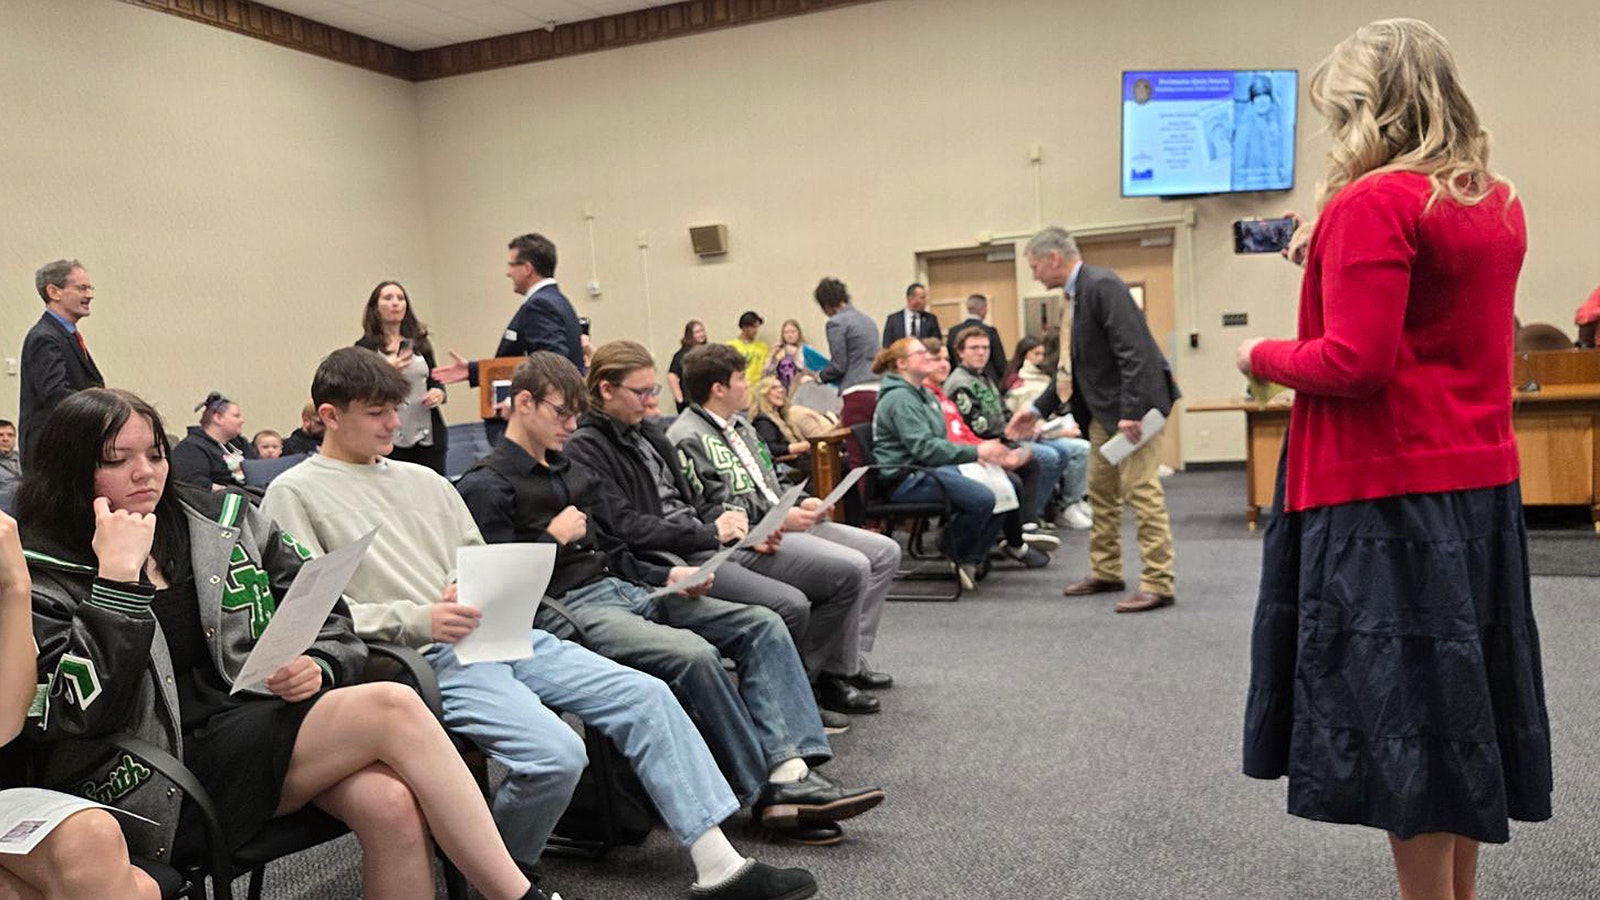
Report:
<svg viewBox="0 0 1600 900"><path fill-rule="evenodd" d="M77 256L112 384L171 431L213 388L293 428L378 279L432 293L413 85L110 0L0 0L0 22L6 357L34 269Z"/></svg>

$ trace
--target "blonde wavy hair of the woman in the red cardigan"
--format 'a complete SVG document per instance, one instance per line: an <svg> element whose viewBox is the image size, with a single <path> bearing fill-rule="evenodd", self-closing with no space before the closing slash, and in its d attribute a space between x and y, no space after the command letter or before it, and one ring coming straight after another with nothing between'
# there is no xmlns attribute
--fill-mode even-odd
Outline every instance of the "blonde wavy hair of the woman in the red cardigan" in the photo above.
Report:
<svg viewBox="0 0 1600 900"><path fill-rule="evenodd" d="M1419 19L1379 19L1339 42L1310 77L1310 102L1333 147L1317 207L1374 171L1419 171L1442 195L1480 203L1498 184L1490 133L1461 88L1445 35Z"/></svg>

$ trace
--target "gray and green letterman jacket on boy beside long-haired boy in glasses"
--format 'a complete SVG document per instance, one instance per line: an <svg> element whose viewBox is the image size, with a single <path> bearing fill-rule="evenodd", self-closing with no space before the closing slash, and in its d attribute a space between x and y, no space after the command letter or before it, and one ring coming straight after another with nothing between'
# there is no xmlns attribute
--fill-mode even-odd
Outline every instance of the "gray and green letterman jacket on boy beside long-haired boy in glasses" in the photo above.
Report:
<svg viewBox="0 0 1600 900"><path fill-rule="evenodd" d="M733 416L733 431L750 448L750 455L762 468L766 487L773 495L782 495L784 485L778 484L773 456L766 450L766 442L755 432L755 426L742 415L736 415ZM717 421L699 404L678 413L672 428L667 429L667 440L678 452L678 466L683 468L683 477L690 482L690 488L702 498L696 506L720 503L730 509L744 509L744 514L750 517L750 525L755 525L773 508L755 485L749 469L728 447L728 439L717 428Z"/></svg>

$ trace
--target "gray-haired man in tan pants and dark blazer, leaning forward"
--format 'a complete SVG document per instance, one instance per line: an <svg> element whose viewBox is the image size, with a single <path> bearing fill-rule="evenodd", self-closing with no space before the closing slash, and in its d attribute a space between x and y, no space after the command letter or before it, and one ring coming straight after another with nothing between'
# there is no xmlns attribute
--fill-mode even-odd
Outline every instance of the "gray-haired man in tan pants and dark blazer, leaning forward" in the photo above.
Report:
<svg viewBox="0 0 1600 900"><path fill-rule="evenodd" d="M1011 437L1037 429L1040 416L1070 408L1088 426L1090 575L1067 585L1070 596L1125 591L1122 578L1122 508L1133 506L1139 525L1139 589L1117 602L1117 612L1146 612L1176 602L1173 528L1162 492L1160 440L1139 447L1112 466L1099 448L1115 434L1138 444L1150 410L1171 415L1178 400L1166 357L1150 336L1128 285L1109 269L1085 266L1078 245L1059 227L1046 227L1027 243L1027 263L1045 287L1062 288L1072 301L1070 375L1056 380L1032 410L1011 420Z"/></svg>

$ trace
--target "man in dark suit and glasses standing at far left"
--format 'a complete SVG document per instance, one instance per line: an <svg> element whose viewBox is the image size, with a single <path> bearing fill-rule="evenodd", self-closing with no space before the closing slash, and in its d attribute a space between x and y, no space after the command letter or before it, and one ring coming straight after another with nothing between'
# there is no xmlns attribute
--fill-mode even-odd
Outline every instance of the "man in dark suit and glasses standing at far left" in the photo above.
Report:
<svg viewBox="0 0 1600 900"><path fill-rule="evenodd" d="M45 314L22 340L22 397L18 431L22 458L32 455L40 428L56 404L85 388L104 388L90 348L78 331L94 301L94 285L77 259L56 259L34 272Z"/></svg>

